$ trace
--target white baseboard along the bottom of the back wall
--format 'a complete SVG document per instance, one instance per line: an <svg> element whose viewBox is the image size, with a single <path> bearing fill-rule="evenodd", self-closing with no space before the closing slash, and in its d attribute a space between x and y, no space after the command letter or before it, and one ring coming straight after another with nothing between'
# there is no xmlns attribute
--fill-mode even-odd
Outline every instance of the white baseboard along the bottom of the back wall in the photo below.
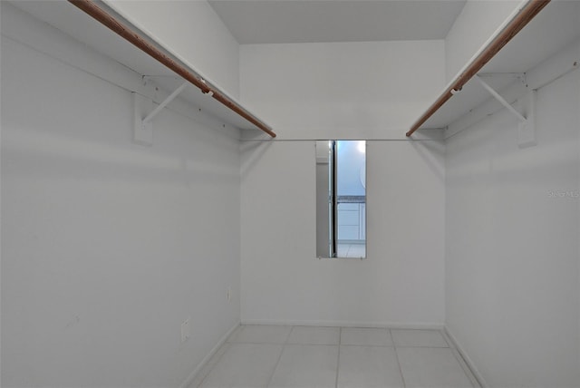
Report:
<svg viewBox="0 0 580 388"><path fill-rule="evenodd" d="M376 321L295 321L245 319L242 325L286 325L286 326L342 326L342 327L388 327L391 329L435 329L443 330L440 323L416 322L376 322Z"/></svg>

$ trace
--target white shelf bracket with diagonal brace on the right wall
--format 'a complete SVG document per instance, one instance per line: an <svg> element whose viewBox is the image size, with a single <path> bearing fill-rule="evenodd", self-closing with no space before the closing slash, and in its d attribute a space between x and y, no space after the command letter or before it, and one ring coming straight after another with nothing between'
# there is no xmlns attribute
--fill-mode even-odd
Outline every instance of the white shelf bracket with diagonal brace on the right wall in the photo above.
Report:
<svg viewBox="0 0 580 388"><path fill-rule="evenodd" d="M479 75L476 74L478 82L483 86L498 102L507 108L507 111L513 113L518 122L517 126L517 145L519 148L532 147L536 142L536 91L527 92L524 101L524 114L526 117L517 112L516 109L507 102L498 92L496 92L487 82L483 81Z"/></svg>

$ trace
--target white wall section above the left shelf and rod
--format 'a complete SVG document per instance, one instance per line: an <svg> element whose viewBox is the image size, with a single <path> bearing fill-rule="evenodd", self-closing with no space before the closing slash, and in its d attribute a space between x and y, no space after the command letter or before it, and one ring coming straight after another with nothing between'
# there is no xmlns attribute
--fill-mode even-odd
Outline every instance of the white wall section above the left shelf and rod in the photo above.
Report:
<svg viewBox="0 0 580 388"><path fill-rule="evenodd" d="M238 98L239 45L206 0L106 2L224 92Z"/></svg>

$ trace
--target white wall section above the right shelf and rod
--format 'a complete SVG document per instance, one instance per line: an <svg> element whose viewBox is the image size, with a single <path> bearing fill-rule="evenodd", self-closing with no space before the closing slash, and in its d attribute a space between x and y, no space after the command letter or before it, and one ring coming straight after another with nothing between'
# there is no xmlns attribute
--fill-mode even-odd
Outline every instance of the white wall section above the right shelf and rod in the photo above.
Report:
<svg viewBox="0 0 580 388"><path fill-rule="evenodd" d="M491 34L522 4L520 0L468 0L445 38L447 82L468 63Z"/></svg>

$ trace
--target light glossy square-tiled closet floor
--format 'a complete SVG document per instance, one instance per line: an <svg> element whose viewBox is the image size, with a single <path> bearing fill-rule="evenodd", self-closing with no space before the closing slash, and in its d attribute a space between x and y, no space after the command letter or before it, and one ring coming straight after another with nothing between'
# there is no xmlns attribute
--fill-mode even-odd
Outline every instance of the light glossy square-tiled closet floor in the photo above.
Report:
<svg viewBox="0 0 580 388"><path fill-rule="evenodd" d="M438 330L242 325L191 387L478 387Z"/></svg>

